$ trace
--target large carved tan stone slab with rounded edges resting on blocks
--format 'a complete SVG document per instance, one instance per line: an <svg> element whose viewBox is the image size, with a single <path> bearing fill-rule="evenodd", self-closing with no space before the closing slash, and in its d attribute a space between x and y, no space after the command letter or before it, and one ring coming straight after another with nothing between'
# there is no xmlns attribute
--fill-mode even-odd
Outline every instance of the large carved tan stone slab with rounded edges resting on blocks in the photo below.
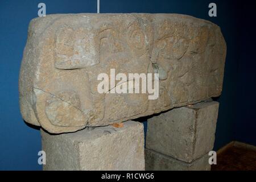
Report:
<svg viewBox="0 0 256 182"><path fill-rule="evenodd" d="M221 94L225 56L220 28L192 16L47 15L30 22L20 110L26 122L65 133L197 103ZM98 93L97 76L112 68L159 73L159 98Z"/></svg>

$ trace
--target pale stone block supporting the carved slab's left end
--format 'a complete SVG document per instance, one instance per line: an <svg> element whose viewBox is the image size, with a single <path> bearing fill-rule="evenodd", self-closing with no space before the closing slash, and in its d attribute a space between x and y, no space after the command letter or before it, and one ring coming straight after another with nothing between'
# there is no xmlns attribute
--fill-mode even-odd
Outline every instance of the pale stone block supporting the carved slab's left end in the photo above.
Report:
<svg viewBox="0 0 256 182"><path fill-rule="evenodd" d="M44 170L144 170L143 125L113 126L50 135L41 130Z"/></svg>

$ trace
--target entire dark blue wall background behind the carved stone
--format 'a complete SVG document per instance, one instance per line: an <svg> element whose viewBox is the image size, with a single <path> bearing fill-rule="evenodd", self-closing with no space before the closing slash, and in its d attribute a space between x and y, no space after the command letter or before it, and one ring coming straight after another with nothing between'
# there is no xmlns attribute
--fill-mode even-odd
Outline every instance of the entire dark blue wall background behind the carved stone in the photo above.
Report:
<svg viewBox="0 0 256 182"><path fill-rule="evenodd" d="M0 1L0 170L40 170L39 130L28 127L19 111L18 77L28 23L38 13L96 13L97 0ZM217 17L208 16L210 2ZM101 0L101 13L179 13L210 20L221 27L228 51L223 92L217 100L217 150L232 140L256 145L255 5L249 1Z"/></svg>

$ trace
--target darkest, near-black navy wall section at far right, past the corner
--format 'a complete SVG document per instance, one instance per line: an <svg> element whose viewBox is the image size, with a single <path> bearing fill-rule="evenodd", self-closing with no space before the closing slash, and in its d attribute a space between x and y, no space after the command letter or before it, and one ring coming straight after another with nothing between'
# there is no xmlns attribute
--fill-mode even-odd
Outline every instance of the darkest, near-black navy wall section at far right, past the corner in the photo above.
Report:
<svg viewBox="0 0 256 182"><path fill-rule="evenodd" d="M256 2L240 6L238 39L237 119L234 120L234 140L256 146Z"/></svg>

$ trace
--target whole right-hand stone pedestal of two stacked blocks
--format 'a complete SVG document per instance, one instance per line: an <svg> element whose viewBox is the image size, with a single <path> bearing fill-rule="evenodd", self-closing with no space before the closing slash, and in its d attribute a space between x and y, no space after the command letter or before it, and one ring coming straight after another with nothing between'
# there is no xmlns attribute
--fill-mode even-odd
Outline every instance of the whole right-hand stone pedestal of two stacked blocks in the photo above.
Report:
<svg viewBox="0 0 256 182"><path fill-rule="evenodd" d="M146 169L209 170L218 102L200 102L161 113L147 123Z"/></svg>

